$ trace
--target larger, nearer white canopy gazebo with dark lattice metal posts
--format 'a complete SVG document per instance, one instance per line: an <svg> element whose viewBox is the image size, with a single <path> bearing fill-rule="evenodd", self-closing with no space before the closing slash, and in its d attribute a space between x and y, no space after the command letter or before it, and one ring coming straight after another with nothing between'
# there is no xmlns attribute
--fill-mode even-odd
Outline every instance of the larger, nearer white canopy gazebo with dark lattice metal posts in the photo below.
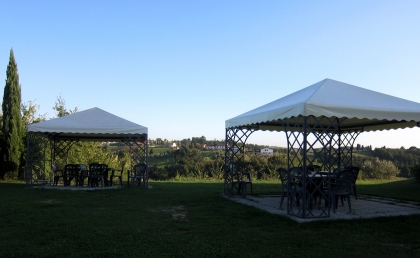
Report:
<svg viewBox="0 0 420 258"><path fill-rule="evenodd" d="M225 194L232 195L235 187L228 164L244 162L245 142L254 131L285 132L289 168L302 166L306 173L306 168L316 161L322 161L322 169L328 171L351 165L354 140L361 132L412 128L419 126L419 122L420 103L331 79L322 80L226 120ZM313 155L306 155L309 152ZM308 215L305 207L296 212L292 208L288 207L292 215L329 216L329 209Z"/></svg>

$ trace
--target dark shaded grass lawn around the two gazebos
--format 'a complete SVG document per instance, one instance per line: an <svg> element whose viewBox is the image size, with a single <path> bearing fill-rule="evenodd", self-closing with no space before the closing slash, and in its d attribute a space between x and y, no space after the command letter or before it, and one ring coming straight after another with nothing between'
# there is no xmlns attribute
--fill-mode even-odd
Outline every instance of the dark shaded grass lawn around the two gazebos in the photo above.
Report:
<svg viewBox="0 0 420 258"><path fill-rule="evenodd" d="M420 257L420 216L299 224L224 198L223 182L150 185L59 191L0 182L0 257ZM258 195L279 189L254 183ZM413 180L358 190L420 201Z"/></svg>

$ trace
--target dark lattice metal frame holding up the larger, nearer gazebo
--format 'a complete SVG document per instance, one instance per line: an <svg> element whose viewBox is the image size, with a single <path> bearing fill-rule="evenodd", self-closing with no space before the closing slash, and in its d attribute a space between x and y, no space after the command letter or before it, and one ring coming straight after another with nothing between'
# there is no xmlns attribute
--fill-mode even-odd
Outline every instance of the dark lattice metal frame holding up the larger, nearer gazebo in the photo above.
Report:
<svg viewBox="0 0 420 258"><path fill-rule="evenodd" d="M308 174L312 164L322 164L321 170L331 173L337 167L352 165L353 144L362 129L342 126L346 118L298 116L275 121L283 128L287 137L288 168L301 167L302 188L295 198L288 198L287 213L301 218L323 218L330 216L330 206L323 207L312 200L327 198L322 187L330 186L330 177L315 178ZM244 146L259 124L226 129L225 184L224 193L234 194L228 164L244 162ZM235 149L236 148L236 149ZM240 169L243 166L240 166ZM242 172L242 171L240 171ZM289 190L293 190L289 185ZM300 204L298 200L301 200Z"/></svg>

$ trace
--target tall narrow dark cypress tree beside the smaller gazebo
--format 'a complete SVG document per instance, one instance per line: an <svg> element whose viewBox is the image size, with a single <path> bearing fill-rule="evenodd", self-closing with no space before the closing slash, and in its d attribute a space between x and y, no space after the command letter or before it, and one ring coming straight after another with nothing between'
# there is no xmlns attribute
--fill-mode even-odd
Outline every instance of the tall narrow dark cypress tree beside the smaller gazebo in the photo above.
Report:
<svg viewBox="0 0 420 258"><path fill-rule="evenodd" d="M13 49L10 50L9 64L6 71L6 85L3 94L3 126L2 133L5 148L3 152L4 172L12 172L12 176L18 176L20 155L23 148L22 115L20 113L21 90L19 74Z"/></svg>

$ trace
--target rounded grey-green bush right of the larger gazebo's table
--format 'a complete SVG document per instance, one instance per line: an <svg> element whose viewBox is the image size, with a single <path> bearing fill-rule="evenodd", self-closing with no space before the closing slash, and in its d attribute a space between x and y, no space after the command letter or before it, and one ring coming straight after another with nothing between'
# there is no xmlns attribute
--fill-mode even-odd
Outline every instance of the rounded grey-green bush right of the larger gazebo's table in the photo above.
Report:
<svg viewBox="0 0 420 258"><path fill-rule="evenodd" d="M392 179L400 174L392 161L379 158L364 161L361 171L361 179Z"/></svg>

